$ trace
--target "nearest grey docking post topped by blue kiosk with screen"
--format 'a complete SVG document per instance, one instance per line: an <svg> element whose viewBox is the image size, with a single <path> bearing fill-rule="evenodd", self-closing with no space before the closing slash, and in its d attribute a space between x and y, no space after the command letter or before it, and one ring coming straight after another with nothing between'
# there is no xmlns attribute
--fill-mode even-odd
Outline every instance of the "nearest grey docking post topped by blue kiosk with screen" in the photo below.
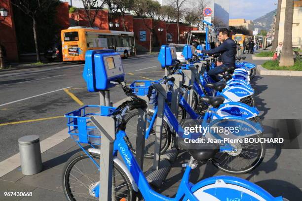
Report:
<svg viewBox="0 0 302 201"><path fill-rule="evenodd" d="M99 150L96 150L94 147L89 149L89 152L92 153L99 152L101 159L99 164L100 182L96 183L92 190L95 197L99 197L99 201L112 201L114 200L112 186L115 183L113 161L116 160L113 157L113 142L115 140L115 133L117 132L117 122L113 117L109 116L110 112L115 109L112 107L109 89L124 81L125 73L121 57L114 50L89 50L86 53L85 61L83 78L87 83L87 90L89 92L100 93L99 108L101 110L100 114L93 113L93 116L90 117L95 127L90 126L89 128L98 129L101 139ZM147 97L139 98L148 101ZM144 163L147 114L148 108L146 110L139 109L136 161L141 168L143 168ZM86 120L84 124L86 124Z"/></svg>

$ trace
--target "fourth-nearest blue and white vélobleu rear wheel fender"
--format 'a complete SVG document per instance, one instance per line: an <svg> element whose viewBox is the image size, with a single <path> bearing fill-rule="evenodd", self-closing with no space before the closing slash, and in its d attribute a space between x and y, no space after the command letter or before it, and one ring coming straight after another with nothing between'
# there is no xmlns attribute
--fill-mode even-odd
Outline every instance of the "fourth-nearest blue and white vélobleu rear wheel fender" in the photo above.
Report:
<svg viewBox="0 0 302 201"><path fill-rule="evenodd" d="M254 93L243 86L227 87L221 93L221 95L225 97L225 102L239 102L241 99L253 94Z"/></svg>

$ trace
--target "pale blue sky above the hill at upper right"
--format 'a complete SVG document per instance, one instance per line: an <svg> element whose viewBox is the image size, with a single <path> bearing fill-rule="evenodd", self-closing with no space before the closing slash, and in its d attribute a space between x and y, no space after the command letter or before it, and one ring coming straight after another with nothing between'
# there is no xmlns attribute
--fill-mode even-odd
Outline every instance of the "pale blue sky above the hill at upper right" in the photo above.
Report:
<svg viewBox="0 0 302 201"><path fill-rule="evenodd" d="M277 8L278 0L229 0L229 19L255 20Z"/></svg>

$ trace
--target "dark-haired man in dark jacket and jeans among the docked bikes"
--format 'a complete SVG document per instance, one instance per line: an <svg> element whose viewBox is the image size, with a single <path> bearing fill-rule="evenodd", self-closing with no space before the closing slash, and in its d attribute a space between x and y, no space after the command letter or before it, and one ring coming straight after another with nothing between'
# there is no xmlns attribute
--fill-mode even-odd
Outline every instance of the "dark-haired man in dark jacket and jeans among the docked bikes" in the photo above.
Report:
<svg viewBox="0 0 302 201"><path fill-rule="evenodd" d="M235 57L237 52L236 42L229 37L228 29L223 28L219 30L219 40L223 43L218 47L201 51L201 53L210 55L221 53L222 65L219 67L214 67L208 72L208 75L210 75L210 77L215 81L219 81L217 74L224 72L222 67L235 67Z"/></svg>

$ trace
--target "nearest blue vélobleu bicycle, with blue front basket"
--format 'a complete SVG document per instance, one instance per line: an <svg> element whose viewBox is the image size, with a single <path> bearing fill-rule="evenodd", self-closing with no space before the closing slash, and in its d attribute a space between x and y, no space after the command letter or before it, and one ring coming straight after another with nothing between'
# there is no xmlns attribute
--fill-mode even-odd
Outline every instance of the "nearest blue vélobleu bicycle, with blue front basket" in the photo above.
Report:
<svg viewBox="0 0 302 201"><path fill-rule="evenodd" d="M113 116L118 121L113 143L112 198L114 201L131 201L134 196L133 192L141 194L145 201L286 201L281 196L274 198L264 189L247 180L232 176L215 176L201 180L196 184L190 183L191 170L198 167L198 162L205 164L208 159L219 152L220 148L216 143L208 143L204 146L196 143L186 143L184 138L179 140L179 146L188 151L191 157L189 162L185 164L186 170L175 198L168 198L155 192L129 148L130 143L123 120L126 111L146 107L146 101L138 98L126 101L117 108L101 107L102 115L107 111L108 116ZM72 122L69 121L70 125L80 128L80 121L75 121L75 116L72 116L72 114L79 115L82 109L80 108L66 115L72 119ZM87 122L92 121L99 128L97 118L88 118L87 114L83 115L83 118L86 118L85 126ZM85 140L82 141L81 139ZM81 139L76 140L79 145L81 142L92 145L89 142L87 132L86 138L82 136ZM84 153L74 155L64 167L64 193L69 201L98 200L101 188L99 185L100 149L92 146L92 148L85 150L81 145L80 147ZM121 159L117 157L118 153Z"/></svg>

